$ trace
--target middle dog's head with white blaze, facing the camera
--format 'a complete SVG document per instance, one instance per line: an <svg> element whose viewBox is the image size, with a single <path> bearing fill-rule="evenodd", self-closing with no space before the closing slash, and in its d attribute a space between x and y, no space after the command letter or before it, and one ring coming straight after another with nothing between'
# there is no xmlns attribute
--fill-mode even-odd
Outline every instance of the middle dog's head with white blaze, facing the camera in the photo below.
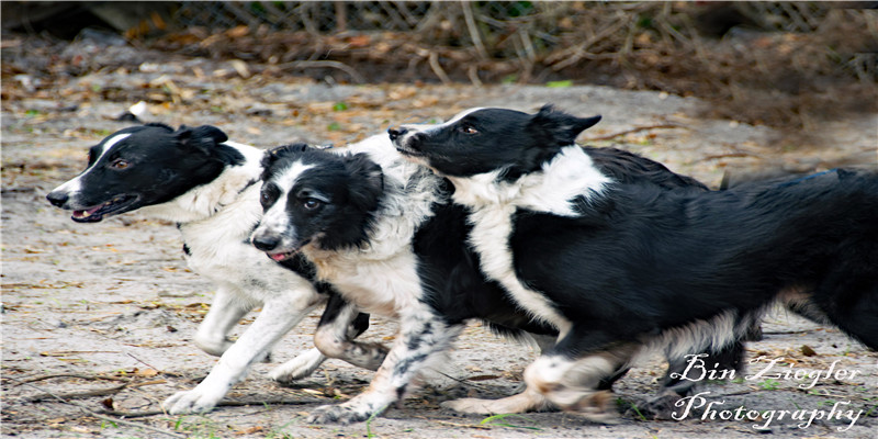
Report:
<svg viewBox="0 0 878 439"><path fill-rule="evenodd" d="M384 175L365 154L296 144L267 151L262 166L264 214L251 236L256 248L282 261L306 245L337 250L368 239Z"/></svg>

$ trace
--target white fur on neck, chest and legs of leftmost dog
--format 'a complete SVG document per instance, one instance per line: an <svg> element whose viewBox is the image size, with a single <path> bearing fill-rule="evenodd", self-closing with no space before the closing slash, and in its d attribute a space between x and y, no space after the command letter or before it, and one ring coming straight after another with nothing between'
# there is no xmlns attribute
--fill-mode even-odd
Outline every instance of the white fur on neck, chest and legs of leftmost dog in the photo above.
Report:
<svg viewBox="0 0 878 439"><path fill-rule="evenodd" d="M103 154L127 137L113 136L103 145ZM210 312L194 337L202 350L222 356L195 389L179 392L164 406L170 414L211 410L228 389L243 380L250 364L264 359L271 347L292 329L308 312L325 301L307 280L284 269L247 243L249 232L261 216L259 161L262 151L251 146L228 142L244 164L227 167L215 180L159 205L140 211L153 217L177 222L191 255L190 268L217 286ZM83 172L82 175L87 173ZM61 184L58 190L81 190L81 176ZM250 309L262 306L256 320L236 342L227 334ZM289 378L289 371L313 371L325 358L307 352L295 365L281 365L272 375Z"/></svg>

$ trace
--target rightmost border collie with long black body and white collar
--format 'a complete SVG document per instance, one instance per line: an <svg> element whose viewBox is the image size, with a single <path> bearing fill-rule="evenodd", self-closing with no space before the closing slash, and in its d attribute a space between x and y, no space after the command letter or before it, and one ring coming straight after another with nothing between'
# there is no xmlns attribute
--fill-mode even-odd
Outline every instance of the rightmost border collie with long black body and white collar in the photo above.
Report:
<svg viewBox="0 0 878 439"><path fill-rule="evenodd" d="M604 376L649 347L672 360L722 349L747 328L741 316L776 301L878 349L878 175L661 191L617 180L575 146L594 123L550 105L474 109L391 133L471 209L483 272L558 329L525 371L528 389L611 420Z"/></svg>

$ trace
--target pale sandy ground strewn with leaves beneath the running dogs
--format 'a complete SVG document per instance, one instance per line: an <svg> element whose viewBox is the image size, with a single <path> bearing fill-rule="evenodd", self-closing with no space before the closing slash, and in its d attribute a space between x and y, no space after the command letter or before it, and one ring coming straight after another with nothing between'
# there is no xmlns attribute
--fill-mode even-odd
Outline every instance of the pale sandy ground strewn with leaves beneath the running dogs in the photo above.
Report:
<svg viewBox="0 0 878 439"><path fill-rule="evenodd" d="M734 177L878 165L876 115L825 123L822 143L790 144L769 128L701 120L698 100L654 92L328 86L302 78L243 79L216 64L175 66L68 78L13 93L2 103L3 438L878 436L878 353L834 328L784 312L767 317L765 339L748 346L754 363L746 376L706 385L710 393L702 402L713 404L703 417L680 412L680 420L658 421L626 412L657 389L663 373L657 359L616 385L626 412L618 425L561 413L455 415L439 403L511 394L534 357L531 348L473 325L458 342L453 364L402 407L368 424L308 425L308 410L356 395L371 376L328 361L293 386L266 378L278 361L309 347L316 314L279 344L275 362L258 364L229 392L225 401L235 405L203 416L161 414L161 401L194 386L216 361L191 342L213 285L187 269L171 224L138 213L75 224L44 199L85 168L88 146L127 125L113 119L139 99L149 101L148 121L213 124L235 140L262 147L296 140L341 144L391 124L447 119L469 106L532 111L553 102L575 114L604 115L583 143L630 149L714 187L725 170ZM20 88L23 81L3 87ZM386 342L394 330L394 323L373 318L365 338ZM772 361L768 373L776 376L755 376Z"/></svg>

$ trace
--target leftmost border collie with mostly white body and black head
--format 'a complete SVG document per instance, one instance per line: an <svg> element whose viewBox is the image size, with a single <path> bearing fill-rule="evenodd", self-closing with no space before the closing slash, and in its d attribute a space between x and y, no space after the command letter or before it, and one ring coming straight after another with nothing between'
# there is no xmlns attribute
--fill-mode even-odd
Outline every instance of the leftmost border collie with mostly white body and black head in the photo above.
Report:
<svg viewBox="0 0 878 439"><path fill-rule="evenodd" d="M86 170L47 195L52 204L72 210L72 219L79 223L97 223L138 209L176 222L189 266L216 284L194 341L205 352L222 357L195 389L165 402L170 414L211 410L245 378L250 364L266 359L271 347L327 296L331 296L329 315L342 315L342 327L322 318L318 331L352 338L369 325L369 316L352 312L326 285L315 289L306 279L313 278L314 268L303 258L281 266L249 244L262 213L257 184L262 153L227 142L213 126L177 131L161 124L133 126L92 146ZM227 334L258 306L262 311L256 320L237 341L230 341ZM383 358L383 352L378 358L344 358L344 353L336 357L372 370ZM307 376L324 359L312 349L270 375L281 382Z"/></svg>

